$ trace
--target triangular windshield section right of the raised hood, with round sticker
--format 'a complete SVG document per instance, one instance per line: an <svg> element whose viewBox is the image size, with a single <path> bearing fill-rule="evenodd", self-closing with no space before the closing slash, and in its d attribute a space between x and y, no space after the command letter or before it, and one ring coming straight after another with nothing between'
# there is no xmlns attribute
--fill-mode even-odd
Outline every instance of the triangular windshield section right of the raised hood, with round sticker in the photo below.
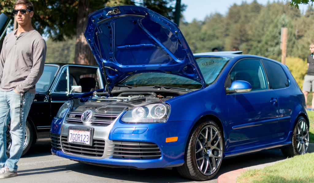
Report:
<svg viewBox="0 0 314 183"><path fill-rule="evenodd" d="M224 66L232 57L195 57L207 86L218 77Z"/></svg>

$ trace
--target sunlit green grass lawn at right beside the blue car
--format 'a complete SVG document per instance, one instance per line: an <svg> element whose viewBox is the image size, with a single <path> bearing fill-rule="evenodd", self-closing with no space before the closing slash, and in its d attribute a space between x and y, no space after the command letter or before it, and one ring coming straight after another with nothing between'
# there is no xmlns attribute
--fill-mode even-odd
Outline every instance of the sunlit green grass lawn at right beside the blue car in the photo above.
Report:
<svg viewBox="0 0 314 183"><path fill-rule="evenodd" d="M307 111L310 120L310 143L314 143L314 111ZM237 183L314 183L314 153L295 156L263 169L247 170Z"/></svg>

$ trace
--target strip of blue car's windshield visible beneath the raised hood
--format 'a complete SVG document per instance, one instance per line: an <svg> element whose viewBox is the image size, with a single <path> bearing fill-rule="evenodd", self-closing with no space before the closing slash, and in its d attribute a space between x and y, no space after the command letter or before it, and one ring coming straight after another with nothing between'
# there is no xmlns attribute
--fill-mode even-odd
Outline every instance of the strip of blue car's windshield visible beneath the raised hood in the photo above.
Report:
<svg viewBox="0 0 314 183"><path fill-rule="evenodd" d="M167 73L140 73L135 74L124 80L120 84L133 87L141 86L168 86L186 89L200 89L202 85L192 79Z"/></svg>

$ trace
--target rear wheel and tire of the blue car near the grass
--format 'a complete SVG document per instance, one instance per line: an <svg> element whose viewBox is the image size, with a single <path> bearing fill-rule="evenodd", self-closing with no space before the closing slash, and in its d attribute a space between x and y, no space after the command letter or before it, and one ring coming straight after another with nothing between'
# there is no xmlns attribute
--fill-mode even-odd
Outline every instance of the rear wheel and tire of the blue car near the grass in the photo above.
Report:
<svg viewBox="0 0 314 183"><path fill-rule="evenodd" d="M296 119L293 128L292 144L281 148L285 157L293 157L295 155L305 154L309 145L309 128L304 117L300 116Z"/></svg>

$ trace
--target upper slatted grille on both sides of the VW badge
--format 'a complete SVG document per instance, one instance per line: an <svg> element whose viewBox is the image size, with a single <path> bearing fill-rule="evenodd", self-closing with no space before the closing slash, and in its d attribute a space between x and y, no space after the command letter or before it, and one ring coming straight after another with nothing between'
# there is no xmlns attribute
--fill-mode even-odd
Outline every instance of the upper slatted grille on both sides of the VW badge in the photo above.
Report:
<svg viewBox="0 0 314 183"><path fill-rule="evenodd" d="M68 115L66 117L67 123L83 124L81 117L82 114L88 109L91 109L91 107L80 106L68 112ZM92 125L108 126L125 109L126 107L112 107L112 106L100 107L96 109L97 112L94 113L94 116L89 120L89 122L91 122Z"/></svg>

